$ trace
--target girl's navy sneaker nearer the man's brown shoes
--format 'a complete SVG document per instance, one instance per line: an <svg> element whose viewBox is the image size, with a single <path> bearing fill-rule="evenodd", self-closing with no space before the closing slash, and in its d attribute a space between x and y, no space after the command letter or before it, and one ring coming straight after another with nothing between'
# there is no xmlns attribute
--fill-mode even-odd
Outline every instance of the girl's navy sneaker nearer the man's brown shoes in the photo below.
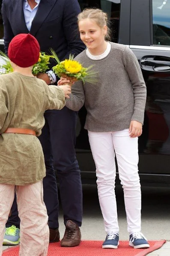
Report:
<svg viewBox="0 0 170 256"><path fill-rule="evenodd" d="M104 243L102 244L102 248L110 248L110 249L117 249L119 245L119 234L110 232L107 234Z"/></svg>

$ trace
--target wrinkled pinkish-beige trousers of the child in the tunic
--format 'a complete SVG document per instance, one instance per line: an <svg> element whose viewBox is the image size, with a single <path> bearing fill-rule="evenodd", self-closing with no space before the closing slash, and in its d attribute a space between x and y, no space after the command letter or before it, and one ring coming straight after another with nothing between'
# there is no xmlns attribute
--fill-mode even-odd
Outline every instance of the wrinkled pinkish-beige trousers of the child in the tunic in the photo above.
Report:
<svg viewBox="0 0 170 256"><path fill-rule="evenodd" d="M21 219L19 256L47 256L49 228L42 181L24 186L0 184L0 256L4 228L14 200L15 188Z"/></svg>

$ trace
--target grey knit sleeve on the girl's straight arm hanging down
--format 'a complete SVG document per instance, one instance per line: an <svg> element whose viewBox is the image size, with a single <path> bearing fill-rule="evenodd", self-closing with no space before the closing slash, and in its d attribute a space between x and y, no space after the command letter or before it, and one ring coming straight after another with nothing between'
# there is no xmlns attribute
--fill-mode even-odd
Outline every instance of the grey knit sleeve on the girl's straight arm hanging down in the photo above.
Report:
<svg viewBox="0 0 170 256"><path fill-rule="evenodd" d="M143 124L146 105L146 84L143 79L139 62L128 46L126 46L123 51L123 62L134 93L134 113L131 120L135 120Z"/></svg>

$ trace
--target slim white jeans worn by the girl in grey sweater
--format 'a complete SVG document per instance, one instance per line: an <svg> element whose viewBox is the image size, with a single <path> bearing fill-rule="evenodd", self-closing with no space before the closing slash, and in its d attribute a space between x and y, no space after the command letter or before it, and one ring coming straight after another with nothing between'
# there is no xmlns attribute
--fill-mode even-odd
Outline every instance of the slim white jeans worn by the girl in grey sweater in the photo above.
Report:
<svg viewBox="0 0 170 256"><path fill-rule="evenodd" d="M92 156L95 161L98 198L107 233L119 232L115 197L116 165L119 169L128 232L141 230L141 189L138 174L138 138L130 138L128 129L119 132L95 133L88 131Z"/></svg>

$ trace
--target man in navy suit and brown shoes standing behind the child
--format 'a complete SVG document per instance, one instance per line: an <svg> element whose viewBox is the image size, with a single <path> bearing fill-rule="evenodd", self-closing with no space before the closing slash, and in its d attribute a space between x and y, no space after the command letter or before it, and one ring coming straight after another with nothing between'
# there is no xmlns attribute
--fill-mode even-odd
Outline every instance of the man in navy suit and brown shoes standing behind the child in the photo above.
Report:
<svg viewBox="0 0 170 256"><path fill-rule="evenodd" d="M78 55L85 46L78 34L77 15L81 12L78 0L3 0L4 46L20 33L30 33L39 41L41 51L55 50L60 60L69 54ZM50 68L56 65L51 62ZM47 84L57 78L52 70L39 74ZM68 108L46 111L45 126L39 137L45 155L46 177L44 201L48 211L50 242L60 241L58 230L58 193L54 170L60 183L60 198L66 231L61 246L77 246L81 241L79 226L82 222L82 185L75 156L75 127L78 113ZM24 172L24 170L23 170ZM31 217L31 216L30 216ZM16 199L12 215L6 224L4 244L19 243L19 218Z"/></svg>

